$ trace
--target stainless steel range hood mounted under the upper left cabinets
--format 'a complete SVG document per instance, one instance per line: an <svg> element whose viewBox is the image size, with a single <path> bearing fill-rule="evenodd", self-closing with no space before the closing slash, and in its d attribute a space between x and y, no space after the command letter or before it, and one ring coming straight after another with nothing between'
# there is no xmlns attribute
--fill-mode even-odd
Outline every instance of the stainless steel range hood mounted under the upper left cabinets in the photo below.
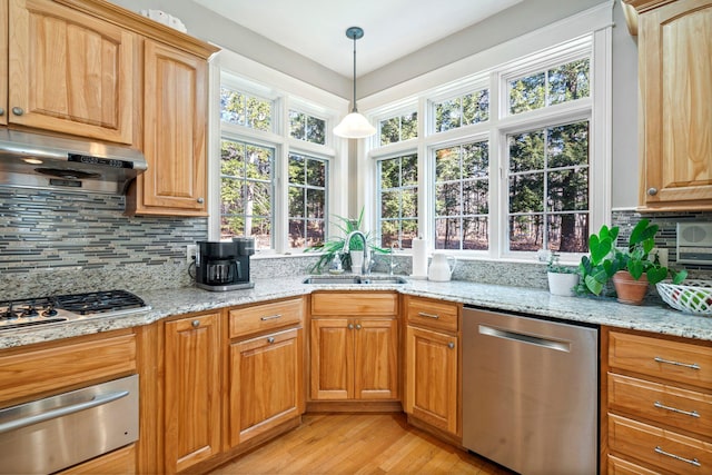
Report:
<svg viewBox="0 0 712 475"><path fill-rule="evenodd" d="M0 185L123 195L146 168L129 147L0 128Z"/></svg>

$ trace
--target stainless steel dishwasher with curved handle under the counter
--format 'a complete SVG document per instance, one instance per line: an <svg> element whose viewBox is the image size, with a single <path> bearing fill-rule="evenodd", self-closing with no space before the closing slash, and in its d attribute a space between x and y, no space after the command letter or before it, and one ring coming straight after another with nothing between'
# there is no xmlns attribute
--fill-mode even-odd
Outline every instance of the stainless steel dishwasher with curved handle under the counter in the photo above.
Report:
<svg viewBox="0 0 712 475"><path fill-rule="evenodd" d="M517 473L597 473L599 330L463 313L463 445Z"/></svg>

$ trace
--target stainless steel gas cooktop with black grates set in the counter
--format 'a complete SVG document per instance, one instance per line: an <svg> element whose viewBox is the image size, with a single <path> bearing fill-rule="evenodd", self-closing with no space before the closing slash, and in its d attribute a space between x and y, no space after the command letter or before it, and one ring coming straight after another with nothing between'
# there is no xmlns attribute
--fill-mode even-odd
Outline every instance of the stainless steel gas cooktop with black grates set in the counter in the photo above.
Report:
<svg viewBox="0 0 712 475"><path fill-rule="evenodd" d="M126 290L6 300L0 301L0 331L146 310L150 307Z"/></svg>

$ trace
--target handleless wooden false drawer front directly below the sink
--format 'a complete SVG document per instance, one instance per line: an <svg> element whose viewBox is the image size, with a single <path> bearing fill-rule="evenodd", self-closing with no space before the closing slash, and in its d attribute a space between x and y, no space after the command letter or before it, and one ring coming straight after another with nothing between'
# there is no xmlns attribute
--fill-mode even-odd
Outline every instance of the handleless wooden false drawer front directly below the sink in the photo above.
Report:
<svg viewBox="0 0 712 475"><path fill-rule="evenodd" d="M390 293L345 293L333 291L312 295L312 315L314 316L396 316L398 296Z"/></svg>

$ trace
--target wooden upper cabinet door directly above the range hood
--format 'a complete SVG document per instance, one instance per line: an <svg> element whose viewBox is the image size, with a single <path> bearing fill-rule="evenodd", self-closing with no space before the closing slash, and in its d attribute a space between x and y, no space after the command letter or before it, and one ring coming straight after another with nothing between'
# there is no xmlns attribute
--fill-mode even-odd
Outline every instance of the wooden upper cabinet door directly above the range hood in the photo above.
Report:
<svg viewBox="0 0 712 475"><path fill-rule="evenodd" d="M10 0L9 24L10 122L132 144L131 32L46 0Z"/></svg>

